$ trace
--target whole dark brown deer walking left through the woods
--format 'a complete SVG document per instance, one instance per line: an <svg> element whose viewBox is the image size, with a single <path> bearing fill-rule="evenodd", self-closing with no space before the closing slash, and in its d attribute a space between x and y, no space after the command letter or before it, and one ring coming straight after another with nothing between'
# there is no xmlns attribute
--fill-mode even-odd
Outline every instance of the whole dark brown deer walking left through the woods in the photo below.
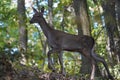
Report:
<svg viewBox="0 0 120 80"><path fill-rule="evenodd" d="M94 80L96 62L101 62L107 71L108 78L110 80L114 80L114 78L110 74L108 65L105 62L104 58L97 55L94 51L95 40L93 37L87 35L74 35L54 29L53 26L50 26L47 23L43 16L44 7L42 7L40 11L37 11L34 7L32 8L34 11L34 15L31 18L30 23L38 23L40 25L44 35L46 36L48 44L51 47L51 49L47 53L49 69L55 71L55 67L53 66L51 59L51 54L57 53L61 66L61 73L65 75L66 73L63 65L62 51L79 52L81 55L88 58L91 62L92 71L90 75L90 80Z"/></svg>

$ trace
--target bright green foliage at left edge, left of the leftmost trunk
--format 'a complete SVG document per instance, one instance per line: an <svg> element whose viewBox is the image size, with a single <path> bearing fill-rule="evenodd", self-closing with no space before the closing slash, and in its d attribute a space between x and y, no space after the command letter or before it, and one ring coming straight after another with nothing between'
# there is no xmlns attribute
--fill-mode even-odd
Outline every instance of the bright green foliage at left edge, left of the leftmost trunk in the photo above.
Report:
<svg viewBox="0 0 120 80"><path fill-rule="evenodd" d="M17 35L16 8L11 8L11 0L0 2L0 47L2 43L12 43ZM16 34L16 35L13 35Z"/></svg>

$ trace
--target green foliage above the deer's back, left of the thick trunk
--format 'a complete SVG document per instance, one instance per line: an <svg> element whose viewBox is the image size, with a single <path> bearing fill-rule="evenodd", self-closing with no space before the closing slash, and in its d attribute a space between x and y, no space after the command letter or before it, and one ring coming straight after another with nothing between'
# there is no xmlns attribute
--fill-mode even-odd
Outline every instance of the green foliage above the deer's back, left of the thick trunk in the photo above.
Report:
<svg viewBox="0 0 120 80"><path fill-rule="evenodd" d="M57 29L61 29L64 27L64 31L77 34L76 32L76 24L75 24L75 16L72 11L69 11L68 8L71 6L71 0L60 1L57 7L53 10L53 25ZM62 23L64 19L64 22ZM64 26L62 26L64 25Z"/></svg>

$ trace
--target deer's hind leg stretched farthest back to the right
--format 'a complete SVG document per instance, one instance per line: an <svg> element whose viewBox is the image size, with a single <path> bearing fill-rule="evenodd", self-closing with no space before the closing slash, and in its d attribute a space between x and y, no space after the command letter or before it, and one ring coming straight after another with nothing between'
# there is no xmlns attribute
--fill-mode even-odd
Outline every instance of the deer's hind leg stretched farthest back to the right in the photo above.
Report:
<svg viewBox="0 0 120 80"><path fill-rule="evenodd" d="M108 66L107 66L107 63L105 62L104 58L98 56L97 54L95 54L94 52L92 52L92 57L96 60L96 61L99 61L101 63L103 63L107 73L108 73L108 78L111 79L111 80L114 80L114 78L111 76L110 74L110 71L108 69Z"/></svg>

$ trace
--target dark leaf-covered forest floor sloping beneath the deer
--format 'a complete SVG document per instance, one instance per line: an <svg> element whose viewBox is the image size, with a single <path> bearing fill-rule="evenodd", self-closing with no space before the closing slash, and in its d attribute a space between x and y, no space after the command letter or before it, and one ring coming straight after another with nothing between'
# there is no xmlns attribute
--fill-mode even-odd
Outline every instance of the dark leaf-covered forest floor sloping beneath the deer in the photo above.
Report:
<svg viewBox="0 0 120 80"><path fill-rule="evenodd" d="M17 65L16 65L17 66ZM0 80L85 80L77 76L63 76L55 72L43 72L37 67L28 67L20 64L13 67L6 58L0 58Z"/></svg>

